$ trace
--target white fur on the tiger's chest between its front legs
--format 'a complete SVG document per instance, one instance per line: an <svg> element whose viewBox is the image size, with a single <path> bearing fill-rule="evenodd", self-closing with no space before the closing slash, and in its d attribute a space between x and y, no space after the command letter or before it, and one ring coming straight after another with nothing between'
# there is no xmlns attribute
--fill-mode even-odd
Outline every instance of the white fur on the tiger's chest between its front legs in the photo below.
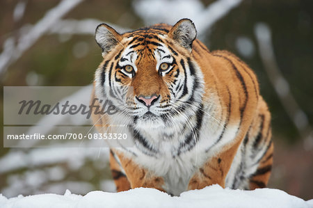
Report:
<svg viewBox="0 0 313 208"><path fill-rule="evenodd" d="M237 125L229 125L225 129L224 136L218 145L214 145L218 139L221 131L223 131L223 125L212 125L212 118L209 115L204 115L204 122L202 123L202 129L200 131L199 141L188 152L183 152L177 157L172 156L172 151L175 150L175 146L179 143L179 139L161 141L159 138L159 147L161 154L158 157L150 157L143 154L141 150L134 147L132 152L136 153L137 157L133 157L136 163L147 168L152 173L159 177L163 177L164 185L163 189L172 193L173 195L179 195L180 193L188 190L188 183L193 177L195 171L203 166L203 164L210 158L214 157L216 153L223 148L224 145L233 141L236 134ZM213 122L214 123L214 122ZM163 129L164 131L165 129ZM168 131L168 134L172 134L175 131ZM151 134L152 133L152 134ZM153 135L150 138L150 142L158 141L158 132L150 131ZM209 152L207 148L212 147ZM131 155L129 155L131 157Z"/></svg>

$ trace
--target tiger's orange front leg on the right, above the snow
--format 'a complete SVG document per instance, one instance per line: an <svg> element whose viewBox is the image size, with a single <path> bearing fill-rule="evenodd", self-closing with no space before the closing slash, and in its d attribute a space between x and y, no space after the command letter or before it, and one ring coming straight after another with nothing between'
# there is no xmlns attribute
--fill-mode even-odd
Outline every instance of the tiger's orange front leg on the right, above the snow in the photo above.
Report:
<svg viewBox="0 0 313 208"><path fill-rule="evenodd" d="M188 190L203 189L212 184L218 184L225 188L225 178L240 143L241 140L236 141L231 147L224 148L215 157L209 158L189 180Z"/></svg>

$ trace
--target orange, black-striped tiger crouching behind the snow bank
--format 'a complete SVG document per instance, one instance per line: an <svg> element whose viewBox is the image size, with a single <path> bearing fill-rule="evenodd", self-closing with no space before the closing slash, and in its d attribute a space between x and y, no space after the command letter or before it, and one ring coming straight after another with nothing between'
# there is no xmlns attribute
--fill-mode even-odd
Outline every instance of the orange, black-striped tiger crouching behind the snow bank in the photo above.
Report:
<svg viewBox="0 0 313 208"><path fill-rule="evenodd" d="M97 26L103 61L91 97L106 97L118 113L93 113L93 123L107 132L120 120L133 131L133 146L110 148L118 192L145 187L180 195L213 184L253 190L268 183L271 114L257 77L196 35L191 19L125 33Z"/></svg>

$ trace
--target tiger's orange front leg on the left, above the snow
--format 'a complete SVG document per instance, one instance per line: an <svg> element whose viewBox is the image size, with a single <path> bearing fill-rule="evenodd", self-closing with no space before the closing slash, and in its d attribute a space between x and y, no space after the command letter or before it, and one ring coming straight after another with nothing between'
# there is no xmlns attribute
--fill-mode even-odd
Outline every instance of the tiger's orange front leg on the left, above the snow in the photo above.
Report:
<svg viewBox="0 0 313 208"><path fill-rule="evenodd" d="M122 166L121 168L125 171L125 177L127 177L126 179L128 180L126 186L125 182L120 183L118 180L115 180L117 187L122 188L123 186L123 188L118 189L118 191L125 191L125 188L130 185L130 189L145 187L166 192L162 187L164 184L164 179L162 177L154 175L151 171L139 166L133 159L125 157L122 152L118 150L113 150L113 152L115 156L118 157L120 166Z"/></svg>

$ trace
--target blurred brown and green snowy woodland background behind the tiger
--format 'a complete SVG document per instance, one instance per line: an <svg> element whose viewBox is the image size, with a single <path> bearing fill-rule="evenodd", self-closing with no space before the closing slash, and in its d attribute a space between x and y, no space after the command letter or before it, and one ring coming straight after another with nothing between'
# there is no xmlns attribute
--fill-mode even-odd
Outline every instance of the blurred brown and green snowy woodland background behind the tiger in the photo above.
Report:
<svg viewBox="0 0 313 208"><path fill-rule="evenodd" d="M210 50L226 49L255 71L272 113L274 166L269 187L313 198L313 1L3 0L3 86L88 86L102 61L93 34L188 17ZM90 95L77 95L90 96ZM1 119L3 126L3 119ZM0 130L3 139L3 128ZM2 140L1 139L1 140ZM1 141L2 143L2 141ZM106 148L4 148L0 193L115 191Z"/></svg>

